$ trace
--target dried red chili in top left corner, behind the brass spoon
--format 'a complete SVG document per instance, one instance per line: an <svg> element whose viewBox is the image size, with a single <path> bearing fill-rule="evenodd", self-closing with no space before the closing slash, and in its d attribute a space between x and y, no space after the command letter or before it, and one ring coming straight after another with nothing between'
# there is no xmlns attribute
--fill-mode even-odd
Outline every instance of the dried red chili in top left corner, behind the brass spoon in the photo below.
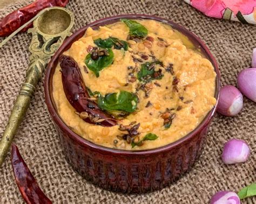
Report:
<svg viewBox="0 0 256 204"><path fill-rule="evenodd" d="M0 37L9 36L31 18L35 17L39 11L51 6L64 7L68 2L69 0L37 0L21 9L11 12L0 20ZM26 26L21 32L27 31L32 25L31 23Z"/></svg>

